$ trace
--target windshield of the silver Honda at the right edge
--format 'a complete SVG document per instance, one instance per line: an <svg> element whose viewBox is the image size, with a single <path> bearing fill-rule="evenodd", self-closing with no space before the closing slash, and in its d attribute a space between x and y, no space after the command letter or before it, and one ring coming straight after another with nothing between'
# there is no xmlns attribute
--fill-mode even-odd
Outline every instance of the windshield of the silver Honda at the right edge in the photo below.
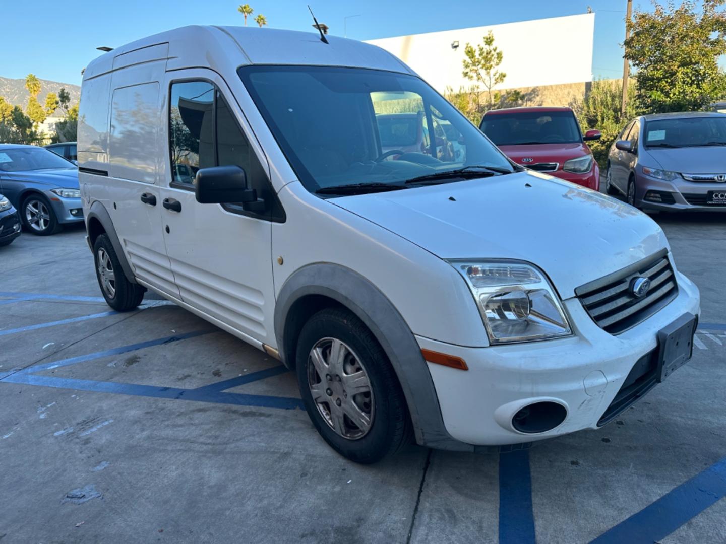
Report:
<svg viewBox="0 0 726 544"><path fill-rule="evenodd" d="M647 148L726 145L726 115L646 121L644 134Z"/></svg>

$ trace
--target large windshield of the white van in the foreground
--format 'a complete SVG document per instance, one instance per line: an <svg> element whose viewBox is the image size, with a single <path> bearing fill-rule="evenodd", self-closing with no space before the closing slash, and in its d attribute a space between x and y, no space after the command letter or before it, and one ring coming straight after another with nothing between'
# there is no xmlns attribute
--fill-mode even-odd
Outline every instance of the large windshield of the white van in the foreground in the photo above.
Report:
<svg viewBox="0 0 726 544"><path fill-rule="evenodd" d="M515 170L415 76L321 66L246 66L238 73L309 191L412 187L417 183L406 182L441 173L436 182L460 181L445 173L473 166L497 175Z"/></svg>

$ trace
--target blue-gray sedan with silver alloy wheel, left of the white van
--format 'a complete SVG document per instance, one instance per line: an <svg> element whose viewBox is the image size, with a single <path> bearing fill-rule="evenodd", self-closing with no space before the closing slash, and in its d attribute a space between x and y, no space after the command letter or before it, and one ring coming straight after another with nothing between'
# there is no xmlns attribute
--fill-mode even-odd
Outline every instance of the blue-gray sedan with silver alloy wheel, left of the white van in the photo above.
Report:
<svg viewBox="0 0 726 544"><path fill-rule="evenodd" d="M0 193L32 234L55 234L83 221L78 168L43 147L0 144Z"/></svg>

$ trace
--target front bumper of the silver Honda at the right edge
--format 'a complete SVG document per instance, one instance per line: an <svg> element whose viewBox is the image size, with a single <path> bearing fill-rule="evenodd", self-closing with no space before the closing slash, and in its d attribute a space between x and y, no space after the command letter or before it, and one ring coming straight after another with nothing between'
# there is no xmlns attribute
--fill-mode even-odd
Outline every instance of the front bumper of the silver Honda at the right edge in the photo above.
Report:
<svg viewBox="0 0 726 544"><path fill-rule="evenodd" d="M666 204L645 200L648 191L668 193L672 196L673 202ZM706 204L709 191L726 193L726 184L693 182L685 179L663 181L639 175L635 182L635 205L644 210L664 212L726 212L726 205Z"/></svg>

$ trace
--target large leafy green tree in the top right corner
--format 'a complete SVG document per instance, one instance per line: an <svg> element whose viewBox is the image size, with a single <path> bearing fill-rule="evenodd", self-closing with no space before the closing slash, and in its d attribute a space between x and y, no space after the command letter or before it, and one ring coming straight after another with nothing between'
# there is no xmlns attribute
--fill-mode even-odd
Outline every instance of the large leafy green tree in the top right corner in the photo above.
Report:
<svg viewBox="0 0 726 544"><path fill-rule="evenodd" d="M726 92L718 59L726 54L726 0L656 0L627 22L625 56L637 69L638 106L645 112L701 110Z"/></svg>

